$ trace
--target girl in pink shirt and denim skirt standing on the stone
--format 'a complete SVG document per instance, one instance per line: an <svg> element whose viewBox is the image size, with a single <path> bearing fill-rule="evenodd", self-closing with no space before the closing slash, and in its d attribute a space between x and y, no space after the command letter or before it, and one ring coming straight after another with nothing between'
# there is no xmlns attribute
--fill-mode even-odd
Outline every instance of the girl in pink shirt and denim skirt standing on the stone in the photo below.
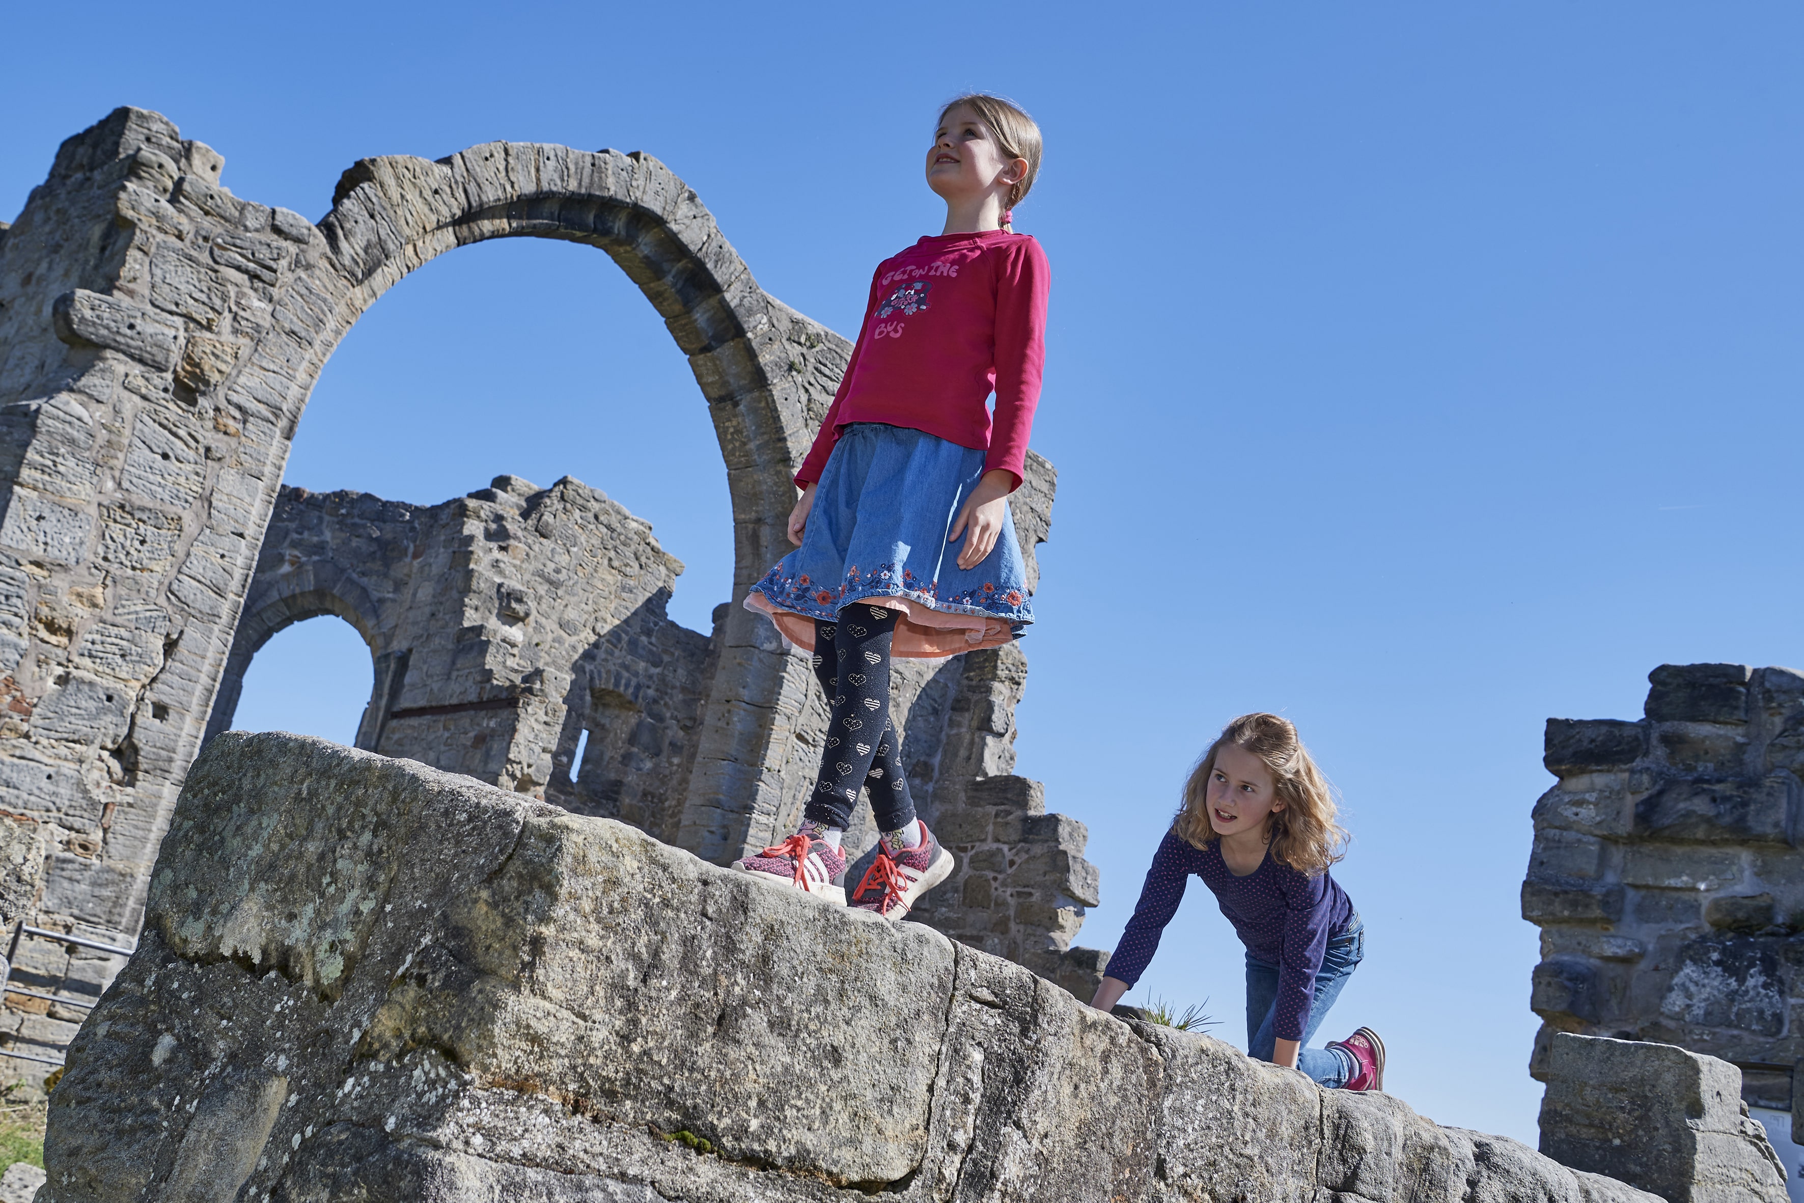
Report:
<svg viewBox="0 0 1804 1203"><path fill-rule="evenodd" d="M945 200L945 229L877 265L846 375L796 473L797 550L745 599L814 653L832 709L801 826L732 866L758 880L844 902L833 880L861 788L882 835L851 905L902 918L953 871L909 799L889 662L996 647L1034 620L1008 494L1039 400L1048 271L1010 209L1039 153L1039 126L1008 101L962 96L940 112L927 188Z"/></svg>

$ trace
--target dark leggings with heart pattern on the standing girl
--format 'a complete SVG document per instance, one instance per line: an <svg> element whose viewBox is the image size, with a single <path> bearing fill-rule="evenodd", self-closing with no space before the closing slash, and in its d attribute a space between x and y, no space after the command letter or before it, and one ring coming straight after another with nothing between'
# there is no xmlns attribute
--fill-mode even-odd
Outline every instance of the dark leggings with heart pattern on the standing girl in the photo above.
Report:
<svg viewBox="0 0 1804 1203"><path fill-rule="evenodd" d="M814 675L833 711L821 748L821 776L803 819L851 826L864 788L879 831L915 822L915 801L902 774L902 741L889 730L889 640L895 610L853 602L833 622L814 624Z"/></svg>

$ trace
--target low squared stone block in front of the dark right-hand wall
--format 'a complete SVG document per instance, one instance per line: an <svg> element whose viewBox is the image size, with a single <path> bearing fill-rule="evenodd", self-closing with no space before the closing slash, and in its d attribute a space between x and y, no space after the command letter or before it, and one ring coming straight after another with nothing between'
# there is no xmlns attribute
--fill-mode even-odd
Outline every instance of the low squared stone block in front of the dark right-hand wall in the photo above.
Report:
<svg viewBox="0 0 1804 1203"><path fill-rule="evenodd" d="M1764 1129L1741 1111L1741 1071L1672 1044L1553 1035L1541 1151L1669 1203L1788 1198Z"/></svg>

